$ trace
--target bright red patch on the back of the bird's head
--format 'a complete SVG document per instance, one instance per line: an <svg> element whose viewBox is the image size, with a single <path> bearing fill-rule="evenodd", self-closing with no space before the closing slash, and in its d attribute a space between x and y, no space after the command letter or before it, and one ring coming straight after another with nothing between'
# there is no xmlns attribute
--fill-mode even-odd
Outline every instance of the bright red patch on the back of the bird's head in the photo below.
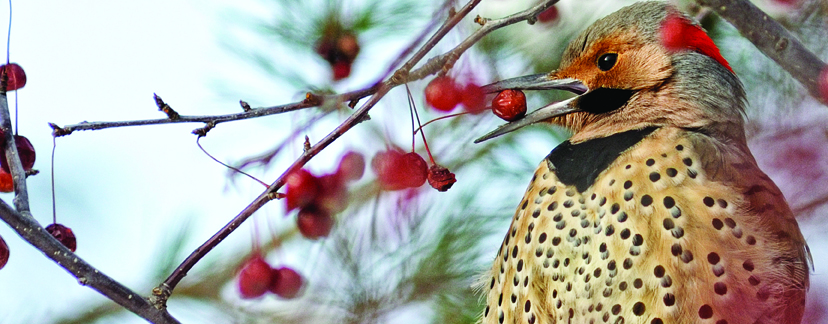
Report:
<svg viewBox="0 0 828 324"><path fill-rule="evenodd" d="M678 13L667 14L664 24L661 25L661 42L669 51L689 49L707 55L733 72L710 36L707 36L701 27Z"/></svg>

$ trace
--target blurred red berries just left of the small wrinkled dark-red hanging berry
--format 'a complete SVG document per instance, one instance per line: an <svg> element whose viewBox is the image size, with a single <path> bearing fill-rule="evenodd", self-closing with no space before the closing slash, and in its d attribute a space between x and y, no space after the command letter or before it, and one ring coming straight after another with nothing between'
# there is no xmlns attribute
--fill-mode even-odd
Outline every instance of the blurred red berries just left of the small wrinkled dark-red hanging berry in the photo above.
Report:
<svg viewBox="0 0 828 324"><path fill-rule="evenodd" d="M384 190L401 190L422 186L428 177L428 165L414 152L388 150L377 153L371 160L371 168Z"/></svg>

